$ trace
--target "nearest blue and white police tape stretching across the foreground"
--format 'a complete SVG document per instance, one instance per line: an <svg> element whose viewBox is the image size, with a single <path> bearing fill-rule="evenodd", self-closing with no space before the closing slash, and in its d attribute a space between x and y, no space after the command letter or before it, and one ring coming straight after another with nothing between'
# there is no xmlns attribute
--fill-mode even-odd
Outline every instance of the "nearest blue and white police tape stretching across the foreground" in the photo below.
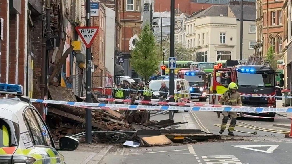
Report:
<svg viewBox="0 0 292 164"><path fill-rule="evenodd" d="M18 98L13 98L18 99ZM18 99L19 100L19 99ZM113 110L178 110L178 111L236 111L236 112L283 112L292 113L291 108L266 108L266 107L238 107L229 105L209 105L193 106L193 107L177 107L177 106L150 106L150 105L129 105L129 104L104 104L104 103L88 103L88 102L69 102L55 100L30 99L31 102L47 103L47 104L63 104L75 107L83 107L88 109L113 109ZM172 102L171 102L172 103ZM169 103L168 103L169 104ZM185 104L186 105L186 104Z"/></svg>

